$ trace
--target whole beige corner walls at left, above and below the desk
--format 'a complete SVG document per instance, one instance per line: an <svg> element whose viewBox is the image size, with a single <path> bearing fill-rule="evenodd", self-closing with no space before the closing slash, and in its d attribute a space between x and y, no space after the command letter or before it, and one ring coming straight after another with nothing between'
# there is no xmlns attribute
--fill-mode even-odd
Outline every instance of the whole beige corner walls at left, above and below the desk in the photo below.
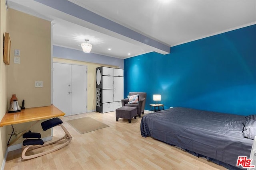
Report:
<svg viewBox="0 0 256 170"><path fill-rule="evenodd" d="M1 4L1 42L6 27L11 39L10 65L4 65L2 59L2 43L0 47L0 111L1 119L6 113L12 94L16 94L21 105L25 100L25 107L39 107L51 105L51 23L17 10L5 10L5 1ZM5 14L6 13L6 14ZM3 15L3 16L2 16ZM2 19L4 16L7 19ZM6 23L6 27L4 26ZM20 64L14 64L14 49L20 50ZM35 88L35 81L43 81L43 88ZM14 125L15 131L20 133L30 126L30 123ZM40 132L42 137L50 136L51 131L42 131L40 123L31 128ZM0 160L6 152L6 144L12 132L11 126L0 127ZM12 140L15 137L12 137ZM12 141L11 140L11 141ZM21 143L23 139L16 143Z"/></svg>

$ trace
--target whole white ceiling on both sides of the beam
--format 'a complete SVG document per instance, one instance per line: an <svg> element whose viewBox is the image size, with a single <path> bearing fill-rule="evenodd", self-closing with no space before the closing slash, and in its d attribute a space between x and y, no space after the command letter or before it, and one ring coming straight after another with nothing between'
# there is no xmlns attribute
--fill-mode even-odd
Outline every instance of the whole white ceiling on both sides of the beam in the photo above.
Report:
<svg viewBox="0 0 256 170"><path fill-rule="evenodd" d="M158 51L147 43L114 33L32 0L8 0L9 8L50 20L53 44L125 59ZM62 1L57 0L61 4ZM255 0L70 0L108 20L169 47L256 24ZM108 50L111 48L111 50ZM130 55L128 55L130 53ZM166 54L166 51L160 53Z"/></svg>

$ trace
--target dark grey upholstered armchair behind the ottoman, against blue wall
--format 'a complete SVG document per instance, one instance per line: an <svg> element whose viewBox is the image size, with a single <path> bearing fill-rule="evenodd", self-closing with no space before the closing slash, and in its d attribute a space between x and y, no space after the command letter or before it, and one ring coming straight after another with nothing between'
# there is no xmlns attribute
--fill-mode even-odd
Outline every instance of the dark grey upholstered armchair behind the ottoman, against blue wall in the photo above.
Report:
<svg viewBox="0 0 256 170"><path fill-rule="evenodd" d="M122 106L136 107L137 108L137 114L140 117L141 113L144 114L147 94L145 92L129 92L129 96L133 96L133 95L136 95L136 94L139 95L138 104L134 104L134 103L128 104L128 102L129 102L128 98L122 99L121 101L122 101Z"/></svg>

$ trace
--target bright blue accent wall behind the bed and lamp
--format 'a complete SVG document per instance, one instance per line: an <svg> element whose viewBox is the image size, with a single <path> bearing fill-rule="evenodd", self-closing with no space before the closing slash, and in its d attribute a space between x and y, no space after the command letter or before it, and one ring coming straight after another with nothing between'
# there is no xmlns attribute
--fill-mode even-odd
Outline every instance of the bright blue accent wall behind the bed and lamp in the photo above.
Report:
<svg viewBox="0 0 256 170"><path fill-rule="evenodd" d="M125 59L124 96L133 91L147 93L147 110L161 94L164 109L256 114L256 25Z"/></svg>

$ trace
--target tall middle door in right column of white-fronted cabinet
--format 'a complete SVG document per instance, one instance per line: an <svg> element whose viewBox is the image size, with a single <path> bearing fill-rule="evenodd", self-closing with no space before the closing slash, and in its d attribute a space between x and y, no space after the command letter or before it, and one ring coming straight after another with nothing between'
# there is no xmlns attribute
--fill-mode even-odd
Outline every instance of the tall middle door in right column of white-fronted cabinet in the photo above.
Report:
<svg viewBox="0 0 256 170"><path fill-rule="evenodd" d="M114 77L114 102L124 98L124 77Z"/></svg>

